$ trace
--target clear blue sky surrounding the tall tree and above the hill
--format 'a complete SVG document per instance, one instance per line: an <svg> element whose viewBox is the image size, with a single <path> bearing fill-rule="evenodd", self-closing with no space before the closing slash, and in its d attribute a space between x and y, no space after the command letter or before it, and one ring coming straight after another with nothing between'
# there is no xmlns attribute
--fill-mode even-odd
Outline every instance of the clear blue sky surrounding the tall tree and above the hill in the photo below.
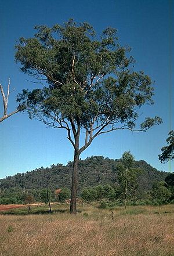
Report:
<svg viewBox="0 0 174 256"><path fill-rule="evenodd" d="M158 170L174 171L173 163L161 164L158 154L166 137L174 129L173 96L173 3L162 0L84 0L19 1L0 3L0 82L6 88L11 80L9 111L16 107L15 97L23 88L36 85L14 63L14 45L20 37L32 37L35 25L62 24L70 17L88 21L101 33L111 26L118 29L122 45L132 47L136 70L155 80L155 104L143 107L143 117L160 116L163 124L146 133L115 131L101 135L82 153L87 156L120 158L131 150L136 160L145 160ZM30 79L30 78L29 78ZM0 113L2 100L0 98ZM46 128L42 122L29 120L27 114L16 114L0 124L0 178L38 167L73 160L73 147L62 130Z"/></svg>

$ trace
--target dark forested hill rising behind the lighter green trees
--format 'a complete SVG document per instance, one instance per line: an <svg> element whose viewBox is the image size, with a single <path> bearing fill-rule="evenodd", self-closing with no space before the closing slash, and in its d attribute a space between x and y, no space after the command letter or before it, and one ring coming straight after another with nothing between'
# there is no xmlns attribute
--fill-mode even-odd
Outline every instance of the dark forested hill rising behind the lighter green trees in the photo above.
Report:
<svg viewBox="0 0 174 256"><path fill-rule="evenodd" d="M79 182L78 190L84 187L95 186L97 184L117 184L117 170L119 160L104 158L103 156L87 157L79 161ZM151 167L146 161L134 161L135 168L142 170L139 176L139 189L150 190L156 181L164 180L167 172L158 171ZM0 179L2 189L25 188L42 189L45 188L45 178L49 177L49 188L71 188L71 171L73 163L69 162L66 166L53 164L49 168L38 168L34 171L23 174L8 176Z"/></svg>

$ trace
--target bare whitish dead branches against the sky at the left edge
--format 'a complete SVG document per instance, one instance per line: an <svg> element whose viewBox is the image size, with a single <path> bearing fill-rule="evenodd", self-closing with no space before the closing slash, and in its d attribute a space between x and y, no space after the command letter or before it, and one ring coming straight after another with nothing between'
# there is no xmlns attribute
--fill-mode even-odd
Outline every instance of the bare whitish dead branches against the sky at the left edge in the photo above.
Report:
<svg viewBox="0 0 174 256"><path fill-rule="evenodd" d="M7 95L5 95L4 91L3 91L3 87L0 84L0 91L2 94L2 99L3 99L3 116L0 117L0 122L2 122L3 120L5 120L6 118L12 116L13 114L16 114L17 112L20 111L20 107L17 107L16 110L12 111L11 113L7 113L8 111L8 99L9 99L9 95L10 95L10 78L9 78L9 83L8 83L8 91L7 91Z"/></svg>

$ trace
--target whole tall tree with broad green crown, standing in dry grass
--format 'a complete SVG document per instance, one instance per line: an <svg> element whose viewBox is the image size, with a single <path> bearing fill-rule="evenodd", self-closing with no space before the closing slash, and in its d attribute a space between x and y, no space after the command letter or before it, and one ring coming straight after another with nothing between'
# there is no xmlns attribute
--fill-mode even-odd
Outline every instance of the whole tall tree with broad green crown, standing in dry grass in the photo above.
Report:
<svg viewBox="0 0 174 256"><path fill-rule="evenodd" d="M88 23L73 20L35 28L34 38L20 38L16 61L21 71L48 86L24 89L17 101L30 118L66 129L74 147L70 212L75 214L79 156L93 139L119 129L146 131L161 118L146 118L135 128L138 109L153 104L153 86L143 71L132 71L130 48L119 45L114 28L106 28L100 39Z"/></svg>

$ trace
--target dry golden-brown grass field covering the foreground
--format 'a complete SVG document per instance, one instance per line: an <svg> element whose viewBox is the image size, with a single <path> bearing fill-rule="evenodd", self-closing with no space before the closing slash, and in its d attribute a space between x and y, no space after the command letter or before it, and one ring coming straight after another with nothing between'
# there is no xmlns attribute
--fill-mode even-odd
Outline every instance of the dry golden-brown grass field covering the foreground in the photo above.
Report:
<svg viewBox="0 0 174 256"><path fill-rule="evenodd" d="M55 214L0 215L0 255L174 255L174 205L117 207L114 219L95 205L79 205L77 216L64 211L68 207L53 205Z"/></svg>

